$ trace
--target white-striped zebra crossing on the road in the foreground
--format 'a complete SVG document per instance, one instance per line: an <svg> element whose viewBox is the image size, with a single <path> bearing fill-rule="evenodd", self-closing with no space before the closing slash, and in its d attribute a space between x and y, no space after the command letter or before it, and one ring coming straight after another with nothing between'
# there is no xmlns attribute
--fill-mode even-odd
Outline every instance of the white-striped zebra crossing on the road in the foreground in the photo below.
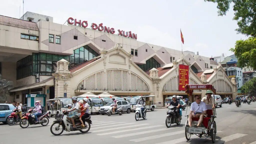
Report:
<svg viewBox="0 0 256 144"><path fill-rule="evenodd" d="M47 127L50 127L53 123L54 119L50 119ZM114 127L113 125L114 124ZM118 128L118 129L117 129ZM181 126L173 126L170 128L166 128L165 125L152 125L148 123L138 123L138 122L120 122L120 121L97 121L92 120L92 125L90 129L89 135L97 135L97 136L109 136L111 138L116 139L127 139L131 142L148 142L151 140L161 140L163 142L156 142L154 144L178 144L178 143L186 143L185 138L185 127ZM161 133L162 132L162 133ZM223 131L217 131L217 136L222 136ZM145 135L149 134L149 135ZM140 136L136 138L134 136ZM243 133L235 133L230 135L223 135L220 139L216 138L216 144L221 143L234 143L237 139L247 136L247 134ZM199 138L195 135L191 135L191 139ZM205 139L205 137L204 137ZM188 141L188 143L190 143ZM211 143L211 139L208 138L207 142L202 143ZM255 142L248 144L256 144Z"/></svg>

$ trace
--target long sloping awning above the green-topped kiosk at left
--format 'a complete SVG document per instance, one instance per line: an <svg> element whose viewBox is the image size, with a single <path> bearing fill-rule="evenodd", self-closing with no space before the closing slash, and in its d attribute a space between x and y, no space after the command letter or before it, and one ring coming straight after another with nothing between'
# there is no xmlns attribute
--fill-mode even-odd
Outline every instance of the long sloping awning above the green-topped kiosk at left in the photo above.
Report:
<svg viewBox="0 0 256 144"><path fill-rule="evenodd" d="M25 86L20 86L20 87L15 87L9 92L15 92L15 91L20 91L20 90L25 90L25 89L31 89L31 88L37 88L37 87L42 87L42 86L53 86L54 85L54 77L47 78L39 83L34 83L30 85L25 85Z"/></svg>

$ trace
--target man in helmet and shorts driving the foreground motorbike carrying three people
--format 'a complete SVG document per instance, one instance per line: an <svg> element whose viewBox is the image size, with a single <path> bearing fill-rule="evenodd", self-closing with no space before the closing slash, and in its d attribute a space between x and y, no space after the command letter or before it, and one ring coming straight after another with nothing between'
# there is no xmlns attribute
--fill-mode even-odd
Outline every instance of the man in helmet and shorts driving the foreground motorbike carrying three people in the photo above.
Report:
<svg viewBox="0 0 256 144"><path fill-rule="evenodd" d="M80 110L79 104L77 102L77 97L72 97L72 108L68 110L69 114L67 116L68 120L71 120L73 128L76 128L74 120L77 119L81 114L78 112Z"/></svg>

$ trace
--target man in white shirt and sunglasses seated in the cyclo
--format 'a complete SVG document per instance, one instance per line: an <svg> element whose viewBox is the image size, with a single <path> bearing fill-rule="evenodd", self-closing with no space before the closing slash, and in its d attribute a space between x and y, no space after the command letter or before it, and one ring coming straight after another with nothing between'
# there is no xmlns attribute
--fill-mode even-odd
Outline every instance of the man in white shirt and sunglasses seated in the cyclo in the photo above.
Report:
<svg viewBox="0 0 256 144"><path fill-rule="evenodd" d="M195 124L194 127L198 127L202 124L204 117L206 117L206 104L201 101L201 98L199 95L195 96L196 101L193 102L190 106L190 113L188 116L188 124L186 127L191 127L192 118L199 117L197 125Z"/></svg>

